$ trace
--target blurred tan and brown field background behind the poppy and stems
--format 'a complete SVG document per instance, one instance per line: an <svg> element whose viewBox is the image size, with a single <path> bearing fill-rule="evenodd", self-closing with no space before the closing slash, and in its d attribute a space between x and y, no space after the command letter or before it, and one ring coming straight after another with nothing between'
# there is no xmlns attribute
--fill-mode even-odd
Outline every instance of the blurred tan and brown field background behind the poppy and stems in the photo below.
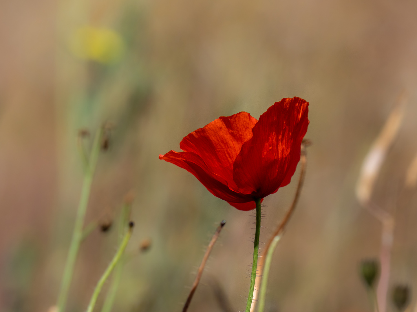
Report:
<svg viewBox="0 0 417 312"><path fill-rule="evenodd" d="M46 312L55 304L83 178L78 130L94 134L106 121L115 128L86 222L117 218L126 193L136 194L132 256L113 311L180 311L223 219L189 311L229 312L219 296L229 310L244 310L253 213L215 198L158 154L178 151L183 136L219 116L259 118L298 96L310 102L313 144L266 309L371 311L358 263L378 257L381 224L354 188L402 90L406 114L373 200L396 219L390 285L417 290L417 198L404 189L417 152L416 12L407 0L1 1L0 310ZM298 176L265 198L262 242ZM152 245L141 253L146 238ZM67 311L85 310L116 241L115 230L85 240Z"/></svg>

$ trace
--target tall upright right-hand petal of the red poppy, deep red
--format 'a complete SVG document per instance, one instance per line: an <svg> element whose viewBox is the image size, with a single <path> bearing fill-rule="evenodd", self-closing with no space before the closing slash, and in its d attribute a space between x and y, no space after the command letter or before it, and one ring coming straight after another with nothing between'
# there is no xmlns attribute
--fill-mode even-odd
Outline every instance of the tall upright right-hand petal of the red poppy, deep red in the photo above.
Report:
<svg viewBox="0 0 417 312"><path fill-rule="evenodd" d="M264 198L291 181L309 124L308 105L298 97L285 98L259 117L252 138L242 145L234 162L239 192Z"/></svg>

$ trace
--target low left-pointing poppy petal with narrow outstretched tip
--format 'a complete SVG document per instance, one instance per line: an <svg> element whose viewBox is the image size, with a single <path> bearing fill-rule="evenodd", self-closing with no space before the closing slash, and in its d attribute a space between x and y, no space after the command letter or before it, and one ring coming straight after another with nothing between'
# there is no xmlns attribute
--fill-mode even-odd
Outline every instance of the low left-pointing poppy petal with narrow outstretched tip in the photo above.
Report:
<svg viewBox="0 0 417 312"><path fill-rule="evenodd" d="M232 191L225 183L226 181L220 176L212 173L201 159L200 156L193 152L169 151L165 155L159 155L159 159L163 159L178 167L186 169L192 173L198 181L205 186L214 196L236 203L246 203L253 201L251 196Z"/></svg>

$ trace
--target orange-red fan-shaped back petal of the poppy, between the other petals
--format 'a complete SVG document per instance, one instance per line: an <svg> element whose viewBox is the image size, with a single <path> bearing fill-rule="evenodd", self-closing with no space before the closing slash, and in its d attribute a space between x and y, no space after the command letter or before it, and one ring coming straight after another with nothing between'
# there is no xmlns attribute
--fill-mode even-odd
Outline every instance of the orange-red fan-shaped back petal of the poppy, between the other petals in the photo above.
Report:
<svg viewBox="0 0 417 312"><path fill-rule="evenodd" d="M252 137L252 128L256 122L254 117L244 111L219 117L184 137L180 148L200 156L211 172L221 176L229 188L237 191L233 180L233 163L244 142Z"/></svg>

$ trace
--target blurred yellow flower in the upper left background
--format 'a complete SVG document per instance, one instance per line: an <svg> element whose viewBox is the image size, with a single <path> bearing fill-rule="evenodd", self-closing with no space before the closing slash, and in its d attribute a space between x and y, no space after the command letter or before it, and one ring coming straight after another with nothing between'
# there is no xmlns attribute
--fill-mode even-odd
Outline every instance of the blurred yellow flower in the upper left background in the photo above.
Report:
<svg viewBox="0 0 417 312"><path fill-rule="evenodd" d="M121 36L108 28L84 26L70 37L70 49L76 57L103 64L120 59L124 48Z"/></svg>

